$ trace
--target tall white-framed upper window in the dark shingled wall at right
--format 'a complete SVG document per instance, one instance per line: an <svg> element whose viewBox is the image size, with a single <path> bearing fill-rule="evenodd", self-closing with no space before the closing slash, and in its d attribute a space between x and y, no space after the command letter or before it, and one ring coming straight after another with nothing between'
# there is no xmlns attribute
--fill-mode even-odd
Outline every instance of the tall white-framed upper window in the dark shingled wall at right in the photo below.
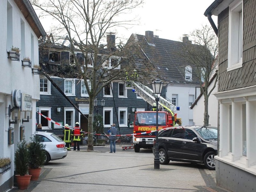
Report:
<svg viewBox="0 0 256 192"><path fill-rule="evenodd" d="M242 67L243 52L243 0L229 5L228 71Z"/></svg>

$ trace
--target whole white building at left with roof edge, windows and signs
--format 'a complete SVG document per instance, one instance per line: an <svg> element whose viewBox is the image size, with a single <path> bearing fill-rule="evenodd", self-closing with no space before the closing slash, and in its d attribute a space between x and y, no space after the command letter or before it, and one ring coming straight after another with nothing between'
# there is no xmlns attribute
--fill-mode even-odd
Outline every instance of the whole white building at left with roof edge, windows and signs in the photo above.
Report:
<svg viewBox="0 0 256 192"><path fill-rule="evenodd" d="M17 143L36 130L39 75L32 68L38 65L38 38L46 34L29 1L0 1L0 16L0 158L11 159L11 169L0 174L0 191L7 191L13 187Z"/></svg>

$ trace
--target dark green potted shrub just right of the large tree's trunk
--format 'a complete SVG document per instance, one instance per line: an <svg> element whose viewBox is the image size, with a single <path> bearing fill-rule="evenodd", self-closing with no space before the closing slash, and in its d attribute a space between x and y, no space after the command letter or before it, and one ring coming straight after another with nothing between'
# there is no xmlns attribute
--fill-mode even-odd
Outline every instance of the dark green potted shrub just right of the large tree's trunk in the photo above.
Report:
<svg viewBox="0 0 256 192"><path fill-rule="evenodd" d="M103 117L99 114L93 117L93 132L97 134L103 134L104 125L103 125ZM105 146L105 139L102 139L101 135L96 135L94 140L95 146Z"/></svg>

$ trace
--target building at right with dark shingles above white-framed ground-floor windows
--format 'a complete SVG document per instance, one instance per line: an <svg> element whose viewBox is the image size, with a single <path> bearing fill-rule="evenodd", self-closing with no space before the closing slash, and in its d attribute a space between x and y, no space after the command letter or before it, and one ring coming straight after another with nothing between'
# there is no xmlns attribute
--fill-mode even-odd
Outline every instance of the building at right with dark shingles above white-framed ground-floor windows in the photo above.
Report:
<svg viewBox="0 0 256 192"><path fill-rule="evenodd" d="M256 1L214 1L205 11L218 16L219 152L217 185L255 191L256 183ZM211 22L212 23L212 22Z"/></svg>

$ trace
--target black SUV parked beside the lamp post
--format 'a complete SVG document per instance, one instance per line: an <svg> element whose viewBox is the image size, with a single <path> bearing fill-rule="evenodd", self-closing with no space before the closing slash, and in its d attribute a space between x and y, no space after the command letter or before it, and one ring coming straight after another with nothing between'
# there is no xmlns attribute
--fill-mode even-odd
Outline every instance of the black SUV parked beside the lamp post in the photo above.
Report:
<svg viewBox="0 0 256 192"><path fill-rule="evenodd" d="M214 156L217 155L218 129L216 127L180 126L158 133L160 164L172 161L202 163L215 170ZM153 153L155 155L156 139Z"/></svg>

